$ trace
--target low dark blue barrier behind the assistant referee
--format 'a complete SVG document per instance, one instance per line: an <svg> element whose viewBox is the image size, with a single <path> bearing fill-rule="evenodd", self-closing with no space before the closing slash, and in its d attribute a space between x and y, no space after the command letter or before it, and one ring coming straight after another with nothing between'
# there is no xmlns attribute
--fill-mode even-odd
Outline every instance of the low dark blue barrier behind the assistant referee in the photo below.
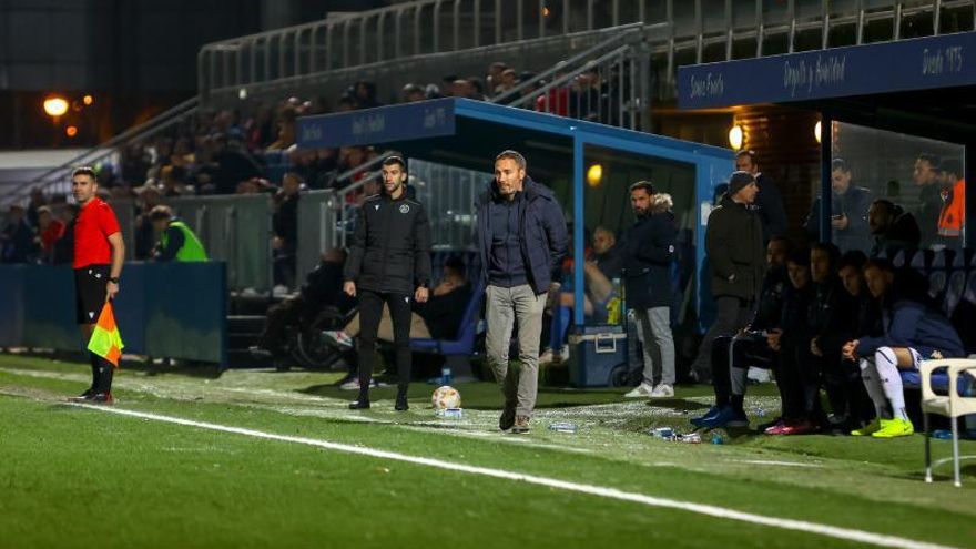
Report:
<svg viewBox="0 0 976 549"><path fill-rule="evenodd" d="M0 346L81 350L71 268L0 265ZM115 298L125 353L227 363L223 262L126 263Z"/></svg>

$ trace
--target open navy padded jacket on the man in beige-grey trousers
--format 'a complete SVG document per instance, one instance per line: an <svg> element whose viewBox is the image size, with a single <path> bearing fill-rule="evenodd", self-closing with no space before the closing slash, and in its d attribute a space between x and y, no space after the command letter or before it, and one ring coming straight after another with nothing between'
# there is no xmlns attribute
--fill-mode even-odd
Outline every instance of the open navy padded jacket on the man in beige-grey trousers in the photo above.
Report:
<svg viewBox="0 0 976 549"><path fill-rule="evenodd" d="M523 196L518 201L518 232L522 261L526 264L528 283L536 294L549 291L549 284L559 282L562 258L566 256L568 234L562 209L556 202L552 191L526 176L522 182ZM504 200L492 181L476 203L478 228L476 242L480 260L481 283L488 283L488 267L491 264L491 223L489 206L492 201Z"/></svg>

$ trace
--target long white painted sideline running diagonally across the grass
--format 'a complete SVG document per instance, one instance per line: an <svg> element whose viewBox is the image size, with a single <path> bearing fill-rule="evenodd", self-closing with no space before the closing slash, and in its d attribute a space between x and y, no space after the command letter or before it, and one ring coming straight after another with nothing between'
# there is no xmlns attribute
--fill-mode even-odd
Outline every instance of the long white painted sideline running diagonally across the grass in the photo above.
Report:
<svg viewBox="0 0 976 549"><path fill-rule="evenodd" d="M742 522L750 522L753 525L767 526L771 528L781 528L784 530L795 530L801 532L809 533L819 533L821 536L826 536L830 538L842 539L846 541L857 541L862 543L870 543L874 546L882 547L898 547L904 549L955 549L950 546L942 546L938 543L929 543L927 541L916 541L907 538L898 538L895 536L886 536L882 533L873 533L863 530L854 530L850 528L841 528L836 526L827 526L820 525L816 522L807 522L805 520L794 520L794 519L785 519L785 518L776 518L776 517L766 517L763 515L755 515L752 512L743 512L736 511L733 509L726 509L724 507L704 505L704 504L692 504L689 501L679 501L675 499L667 499L667 498L658 498L653 496L644 496L643 494L634 494L618 490L616 488L604 488L601 486L594 485L583 485L577 482L569 482L566 480L559 480L555 478L539 477L535 475L526 475L521 472L512 472L506 471L502 469L489 469L487 467L476 467L471 465L464 464L454 464L450 461L441 461L439 459L417 457L417 456L408 456L406 454L398 454L395 451L387 450L377 450L374 448L367 448L363 446L352 446L338 443L329 443L328 440L319 440L315 438L305 438L305 437L292 437L287 435L275 435L273 433L264 433L254 429L245 429L243 427L231 427L227 425L220 424L211 424L205 421L193 421L191 419L183 419L180 417L173 416L162 416L159 414L148 414L144 411L134 411L134 410L125 410L113 407L105 406L91 406L84 404L69 404L68 406L77 406L79 408L87 408L96 411L105 411L109 414L118 414L121 416L131 416L139 417L142 419L151 419L154 421L162 421L175 425L183 425L186 427L196 427L200 429L215 430L221 433L231 433L235 435L245 435L248 437L255 438L264 438L267 440L279 440L283 443L295 443L303 444L307 446L317 446L319 448L326 448L329 450L344 451L347 454L358 454L360 456L369 456L374 458L382 459L392 459L395 461L404 461L408 464L423 465L427 467L435 467L438 469L446 469L450 471L459 471L459 472L468 472L471 475L480 475L484 477L492 477L492 478L501 478L505 480L516 480L528 482L538 486L546 486L549 488L557 488L560 490L575 491L579 494L588 494L591 496L599 496L602 498L618 499L621 501L632 501L636 504L643 504L650 507L661 507L665 509L678 509L682 511L697 512L699 515L706 515L710 517L729 519L729 520L739 520Z"/></svg>

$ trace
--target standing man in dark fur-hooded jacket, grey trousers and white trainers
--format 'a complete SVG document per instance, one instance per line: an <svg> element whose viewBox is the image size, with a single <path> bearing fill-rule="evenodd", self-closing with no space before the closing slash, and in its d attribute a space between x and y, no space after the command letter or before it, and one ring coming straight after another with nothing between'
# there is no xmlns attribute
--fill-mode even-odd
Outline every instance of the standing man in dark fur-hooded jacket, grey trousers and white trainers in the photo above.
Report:
<svg viewBox="0 0 976 549"><path fill-rule="evenodd" d="M638 322L644 367L640 385L624 396L673 397L671 264L675 258L678 228L671 213L671 196L658 193L650 181L638 181L630 185L630 205L637 220L628 230L621 250L627 283L624 295Z"/></svg>

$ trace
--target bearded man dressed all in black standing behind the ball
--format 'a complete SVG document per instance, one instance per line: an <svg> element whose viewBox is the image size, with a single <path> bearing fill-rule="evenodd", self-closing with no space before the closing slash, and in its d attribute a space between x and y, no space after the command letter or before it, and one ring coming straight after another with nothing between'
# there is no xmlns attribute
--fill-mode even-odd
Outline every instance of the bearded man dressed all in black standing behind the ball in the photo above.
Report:
<svg viewBox="0 0 976 549"><path fill-rule="evenodd" d="M407 164L383 161L383 192L359 209L343 289L359 298L359 397L350 409L369 408L376 335L383 305L393 318L397 365L395 408L404 411L410 383L410 298L426 303L430 284L430 222L427 211L407 197Z"/></svg>

